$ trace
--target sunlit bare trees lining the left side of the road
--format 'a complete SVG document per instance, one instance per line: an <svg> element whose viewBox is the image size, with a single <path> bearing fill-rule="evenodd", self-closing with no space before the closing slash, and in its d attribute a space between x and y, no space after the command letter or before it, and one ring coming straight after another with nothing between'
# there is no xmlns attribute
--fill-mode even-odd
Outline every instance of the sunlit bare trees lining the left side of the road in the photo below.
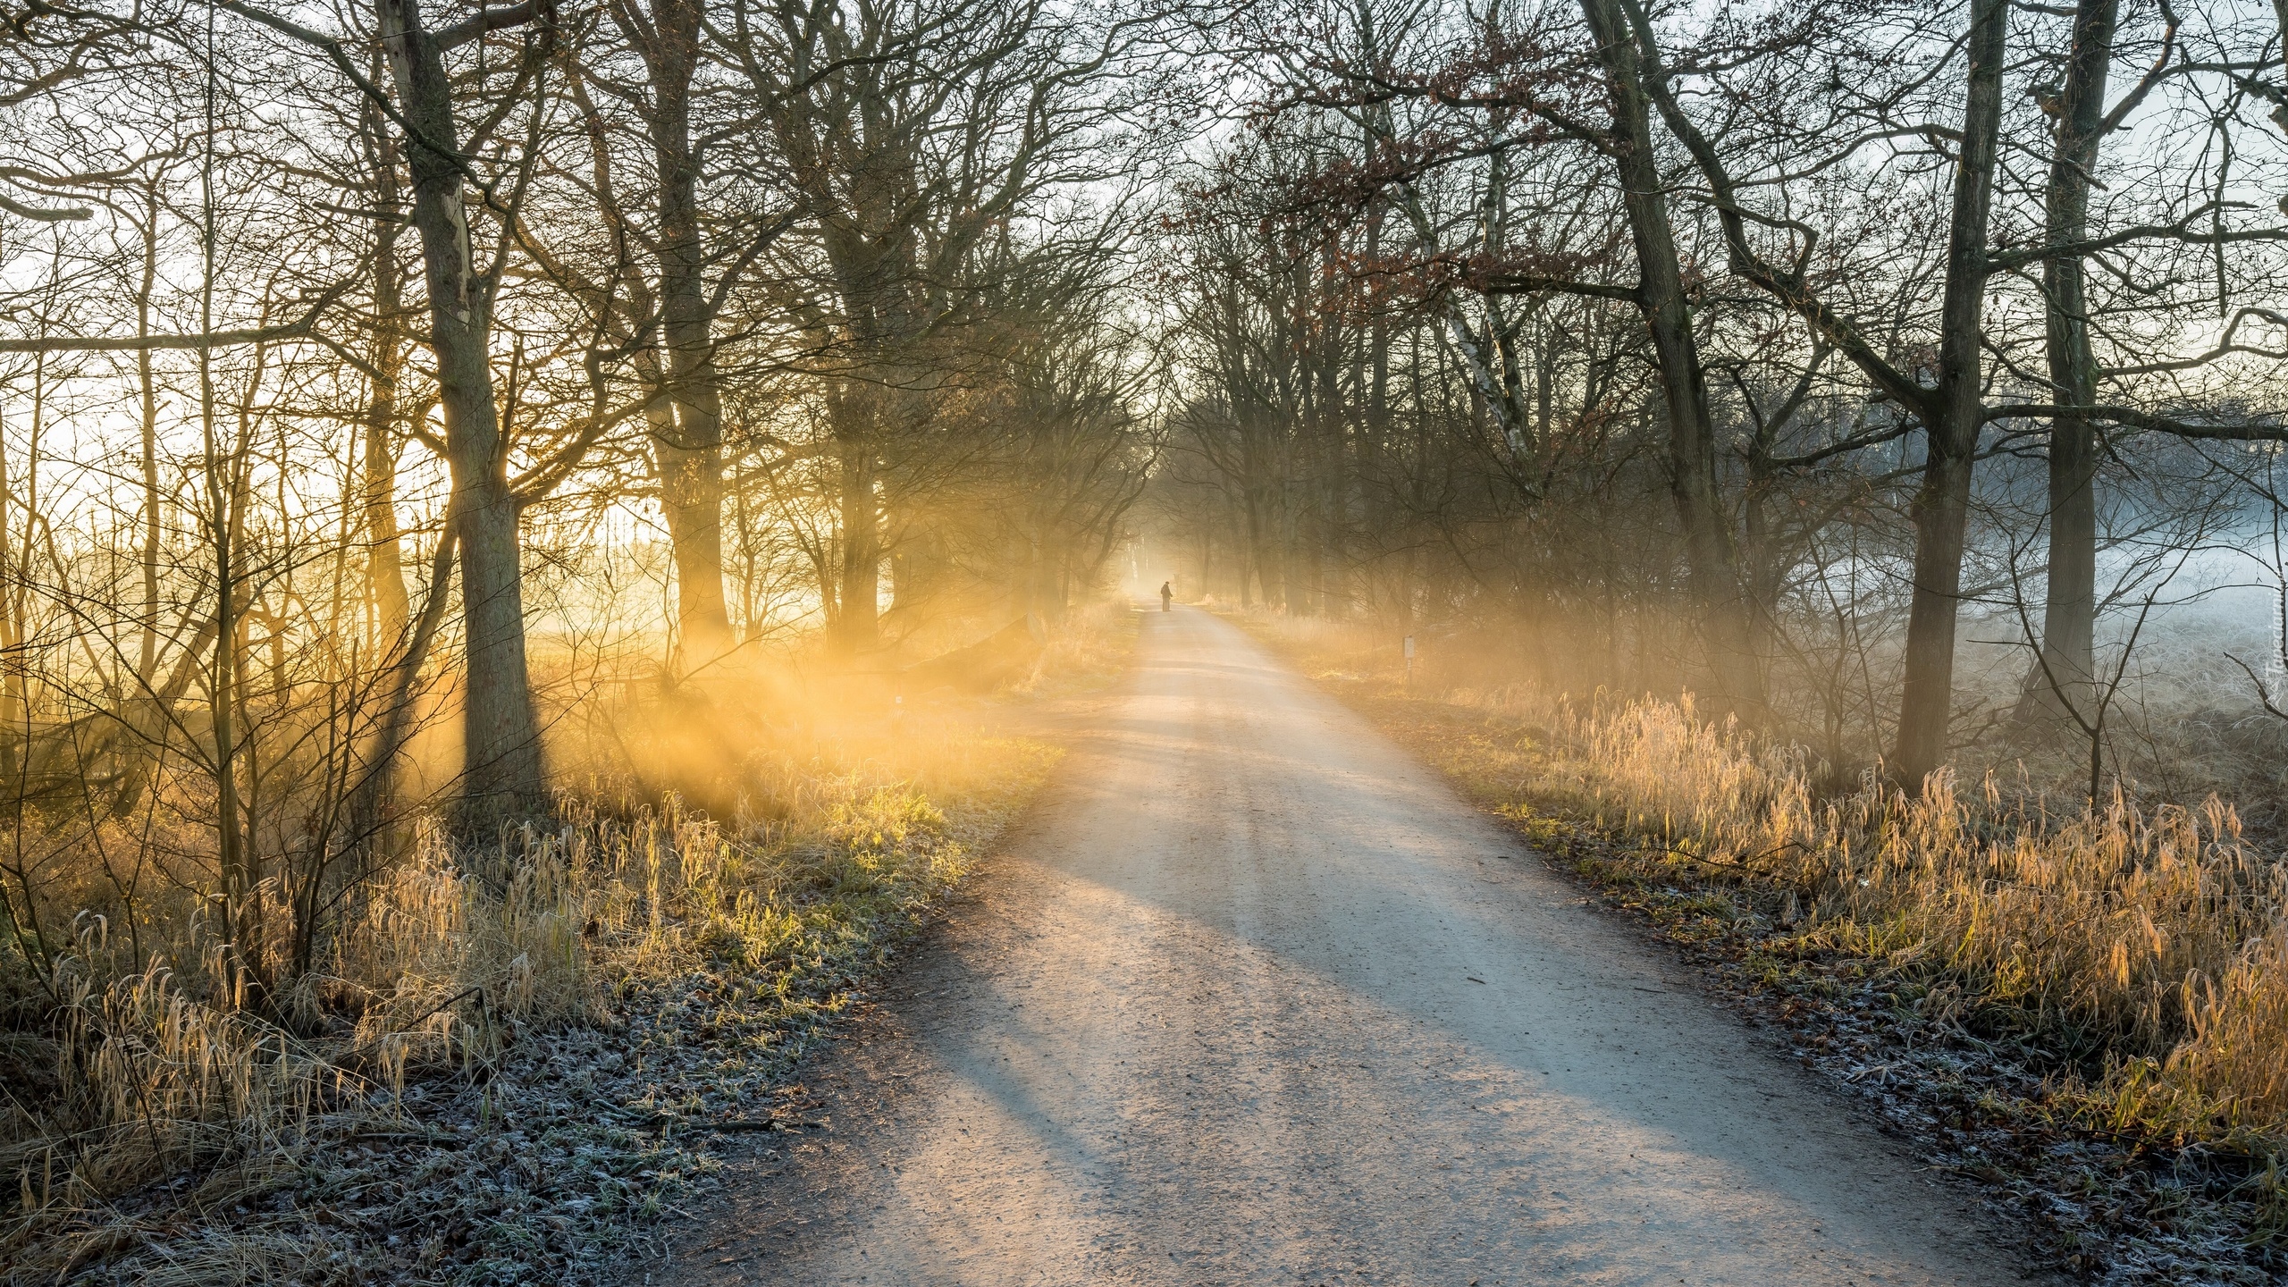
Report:
<svg viewBox="0 0 2288 1287"><path fill-rule="evenodd" d="M1041 0L0 7L30 976L137 898L201 907L247 987L311 969L412 813L545 815L549 728L629 666L1057 621L1158 449L1169 37Z"/></svg>

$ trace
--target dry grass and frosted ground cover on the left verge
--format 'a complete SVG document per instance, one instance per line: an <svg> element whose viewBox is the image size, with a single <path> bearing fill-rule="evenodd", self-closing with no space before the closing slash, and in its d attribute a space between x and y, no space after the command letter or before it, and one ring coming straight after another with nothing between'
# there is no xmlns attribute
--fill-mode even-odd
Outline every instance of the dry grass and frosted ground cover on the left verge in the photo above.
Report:
<svg viewBox="0 0 2288 1287"><path fill-rule="evenodd" d="M110 982L73 964L53 1033L18 1051L59 1072L43 1102L9 1097L7 1278L593 1269L627 1216L705 1175L693 1134L753 1129L750 1097L1052 760L1000 740L934 751L959 774L787 765L801 808L741 831L675 802L572 802L483 861L426 831L316 982L320 1010L355 1014L334 1033L197 1001L165 964Z"/></svg>

